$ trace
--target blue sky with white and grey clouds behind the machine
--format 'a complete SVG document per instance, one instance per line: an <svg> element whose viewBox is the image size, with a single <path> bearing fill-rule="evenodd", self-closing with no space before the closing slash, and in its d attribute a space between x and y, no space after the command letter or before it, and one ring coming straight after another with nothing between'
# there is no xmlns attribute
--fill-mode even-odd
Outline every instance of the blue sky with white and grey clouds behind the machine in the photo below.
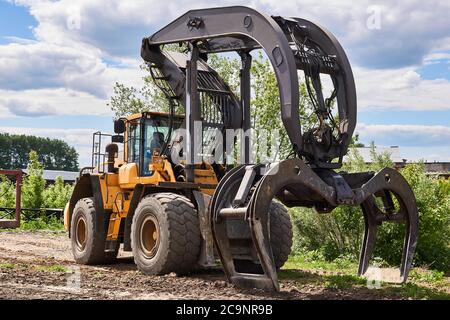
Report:
<svg viewBox="0 0 450 320"><path fill-rule="evenodd" d="M90 159L93 131L111 131L116 81L139 85L144 36L212 0L0 0L0 131L57 137ZM362 142L408 160L450 161L450 2L255 0L272 15L318 22L355 73Z"/></svg>

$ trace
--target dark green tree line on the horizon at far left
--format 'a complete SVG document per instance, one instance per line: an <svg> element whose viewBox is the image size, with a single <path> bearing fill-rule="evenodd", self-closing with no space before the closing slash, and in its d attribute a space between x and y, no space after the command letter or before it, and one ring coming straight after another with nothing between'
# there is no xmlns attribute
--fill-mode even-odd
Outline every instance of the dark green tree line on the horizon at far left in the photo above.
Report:
<svg viewBox="0 0 450 320"><path fill-rule="evenodd" d="M78 171L78 154L75 148L62 140L0 133L2 169L25 168L32 150L39 154L39 161L47 170Z"/></svg>

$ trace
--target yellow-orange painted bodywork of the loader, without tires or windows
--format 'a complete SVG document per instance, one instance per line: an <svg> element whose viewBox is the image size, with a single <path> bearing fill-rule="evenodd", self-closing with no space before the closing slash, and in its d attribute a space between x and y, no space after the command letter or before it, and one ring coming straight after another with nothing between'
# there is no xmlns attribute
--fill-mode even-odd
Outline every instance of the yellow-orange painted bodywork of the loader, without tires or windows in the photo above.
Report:
<svg viewBox="0 0 450 320"><path fill-rule="evenodd" d="M100 168L108 165L108 162L99 163L95 168L91 168L91 173L80 173L72 198L64 210L64 225L66 230L70 230L71 214L76 202L86 196L93 197L95 203L104 212L110 213L107 241L116 241L121 232L121 224L127 218L130 207L136 208L145 194L145 190L154 188L155 190L197 190L207 195L212 195L218 179L212 166L208 163L195 165L194 183L177 181L172 163L165 156L154 153L148 164L150 175L139 174L139 163L128 162L130 138L130 124L139 123L142 119L169 118L169 114L158 112L147 112L133 114L126 118L124 123L123 159L114 158L114 170L112 172L100 172ZM178 116L182 119L182 116ZM163 183L171 183L163 185ZM137 188L139 186L139 188ZM137 189L139 189L137 191ZM135 195L135 192L139 194Z"/></svg>

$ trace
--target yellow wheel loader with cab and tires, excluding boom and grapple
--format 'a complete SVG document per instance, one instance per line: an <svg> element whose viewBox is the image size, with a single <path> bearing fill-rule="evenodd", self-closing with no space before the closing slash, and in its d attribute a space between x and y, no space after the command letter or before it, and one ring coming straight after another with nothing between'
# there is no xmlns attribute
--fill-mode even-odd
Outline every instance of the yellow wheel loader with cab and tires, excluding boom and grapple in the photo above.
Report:
<svg viewBox="0 0 450 320"><path fill-rule="evenodd" d="M176 145L168 135L183 121L183 115L147 112L116 120L114 136L94 133L93 165L81 170L64 215L77 263L111 263L123 243L147 274L185 274L214 265L206 208L225 166L202 162L194 166L193 182L186 181L185 162L173 163L167 152ZM100 152L108 139L114 143ZM271 210L281 267L290 253L292 228L281 204L274 202ZM251 241L249 231L236 241ZM244 267L255 268L256 253L240 254Z"/></svg>

